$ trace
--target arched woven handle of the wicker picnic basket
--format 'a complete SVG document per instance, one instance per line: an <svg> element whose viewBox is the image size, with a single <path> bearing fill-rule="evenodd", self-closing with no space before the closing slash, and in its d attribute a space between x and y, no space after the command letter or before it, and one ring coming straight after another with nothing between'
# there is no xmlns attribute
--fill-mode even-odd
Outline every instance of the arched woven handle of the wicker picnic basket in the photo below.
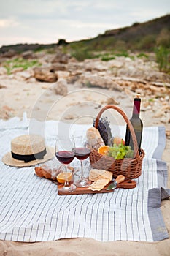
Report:
<svg viewBox="0 0 170 256"><path fill-rule="evenodd" d="M120 108L118 108L115 105L106 105L104 108L101 108L100 112L98 113L97 117L96 117L96 122L95 122L95 127L98 127L98 121L102 115L102 113L104 113L105 110L112 108L117 110L118 113L120 113L121 116L123 116L123 119L125 120L126 124L128 124L128 128L130 129L131 132L131 136L132 136L132 140L134 143L134 157L136 157L136 155L138 155L138 145L137 145L137 140L136 140L136 135L134 132L134 127L131 124L131 121L129 121L128 117L125 115L125 113L123 112L123 110L121 110Z"/></svg>

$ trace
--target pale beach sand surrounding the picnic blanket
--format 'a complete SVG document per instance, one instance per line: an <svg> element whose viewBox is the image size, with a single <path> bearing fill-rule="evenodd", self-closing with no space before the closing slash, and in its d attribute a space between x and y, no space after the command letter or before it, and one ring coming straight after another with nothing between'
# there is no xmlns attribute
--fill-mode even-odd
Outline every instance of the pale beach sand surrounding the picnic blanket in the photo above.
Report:
<svg viewBox="0 0 170 256"><path fill-rule="evenodd" d="M121 102L121 107L131 116L131 97L125 92L108 91L107 89L85 89L81 86L68 85L70 93L66 97L55 95L50 89L50 83L26 83L7 78L1 78L0 109L10 116L23 116L26 111L28 118L39 116L47 119L65 120L69 122L88 123L91 116L96 116L102 105L107 105L109 97L114 97ZM85 89L86 91L82 91ZM7 106L7 107L6 107ZM142 111L144 126L169 124L154 118L152 110ZM122 123L120 117L115 120ZM163 160L170 166L169 160L170 139L166 139L166 148ZM170 170L170 169L169 169ZM170 188L170 175L168 187ZM170 200L163 200L161 211L167 230L170 235ZM159 242L147 243L136 241L100 242L90 238L61 239L37 243L21 243L13 241L0 241L0 255L170 255L170 239Z"/></svg>

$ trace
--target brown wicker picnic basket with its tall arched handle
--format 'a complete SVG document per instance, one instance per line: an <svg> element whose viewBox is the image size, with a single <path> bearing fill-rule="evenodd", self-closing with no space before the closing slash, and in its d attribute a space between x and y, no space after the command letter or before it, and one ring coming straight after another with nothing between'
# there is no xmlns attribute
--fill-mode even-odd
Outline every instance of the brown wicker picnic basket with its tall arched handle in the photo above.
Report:
<svg viewBox="0 0 170 256"><path fill-rule="evenodd" d="M101 114L109 108L112 108L120 113L120 115L123 116L126 124L128 125L134 143L134 158L115 160L113 157L107 157L99 154L96 149L92 148L90 154L90 165L95 169L111 171L113 173L113 178L116 178L119 174L123 174L125 176L125 180L138 178L142 172L142 160L144 158L144 150L141 149L139 154L134 127L132 126L131 121L128 120L128 117L125 115L123 110L115 105L105 106L100 110L98 116L96 117L95 127L98 128L98 121L101 117Z"/></svg>

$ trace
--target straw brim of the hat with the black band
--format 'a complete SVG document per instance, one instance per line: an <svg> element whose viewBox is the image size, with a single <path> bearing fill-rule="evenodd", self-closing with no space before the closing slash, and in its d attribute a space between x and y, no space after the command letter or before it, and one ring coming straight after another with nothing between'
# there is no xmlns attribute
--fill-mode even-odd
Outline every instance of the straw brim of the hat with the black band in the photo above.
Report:
<svg viewBox="0 0 170 256"><path fill-rule="evenodd" d="M42 162L47 162L47 160L50 160L54 157L54 148L52 147L46 147L47 154L45 154L43 159L36 159L34 161L30 162L24 162L17 159L12 158L11 152L8 152L7 154L2 157L2 162L4 162L5 165L15 166L15 167L26 167L26 166L32 166L41 164Z"/></svg>

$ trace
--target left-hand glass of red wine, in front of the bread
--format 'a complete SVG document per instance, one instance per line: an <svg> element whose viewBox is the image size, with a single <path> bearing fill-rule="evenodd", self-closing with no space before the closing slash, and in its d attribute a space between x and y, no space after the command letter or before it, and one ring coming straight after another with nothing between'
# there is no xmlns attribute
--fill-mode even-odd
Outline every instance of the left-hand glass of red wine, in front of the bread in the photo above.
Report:
<svg viewBox="0 0 170 256"><path fill-rule="evenodd" d="M64 184L58 186L58 191L60 192L72 192L76 189L74 184L70 184L68 181L68 168L72 160L75 157L74 152L72 151L72 142L66 137L57 138L55 144L55 156L58 161L61 162L65 167L65 179Z"/></svg>

